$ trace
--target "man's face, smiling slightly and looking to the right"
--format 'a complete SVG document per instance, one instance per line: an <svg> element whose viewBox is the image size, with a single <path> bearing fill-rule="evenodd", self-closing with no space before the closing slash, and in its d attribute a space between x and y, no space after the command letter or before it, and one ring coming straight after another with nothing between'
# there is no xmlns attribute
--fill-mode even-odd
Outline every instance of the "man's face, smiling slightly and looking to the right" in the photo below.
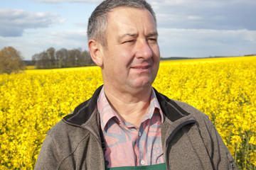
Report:
<svg viewBox="0 0 256 170"><path fill-rule="evenodd" d="M146 9L119 7L107 19L104 83L121 91L151 87L159 69L156 22Z"/></svg>

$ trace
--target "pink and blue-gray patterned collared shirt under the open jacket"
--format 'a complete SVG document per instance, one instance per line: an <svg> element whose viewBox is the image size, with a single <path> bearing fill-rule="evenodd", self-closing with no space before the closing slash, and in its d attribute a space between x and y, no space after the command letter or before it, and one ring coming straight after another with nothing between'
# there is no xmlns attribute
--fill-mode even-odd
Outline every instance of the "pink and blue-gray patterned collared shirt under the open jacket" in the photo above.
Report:
<svg viewBox="0 0 256 170"><path fill-rule="evenodd" d="M122 121L108 103L104 87L97 99L100 123L105 137L105 159L108 168L118 166L146 166L164 163L161 145L163 113L154 90L151 90L149 111L139 128Z"/></svg>

